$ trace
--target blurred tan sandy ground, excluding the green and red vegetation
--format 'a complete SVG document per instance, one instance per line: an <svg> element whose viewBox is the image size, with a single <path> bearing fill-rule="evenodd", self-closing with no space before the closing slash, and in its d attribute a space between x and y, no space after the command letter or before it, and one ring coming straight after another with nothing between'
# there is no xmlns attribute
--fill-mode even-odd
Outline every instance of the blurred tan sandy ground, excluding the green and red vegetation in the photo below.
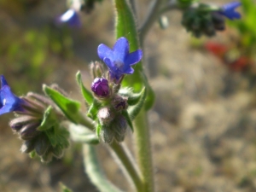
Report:
<svg viewBox="0 0 256 192"><path fill-rule="evenodd" d="M56 81L71 89L74 98L79 98L73 86L76 71L82 71L84 83L89 85L84 63L97 59L99 43L113 43L112 12L108 3L103 6L105 16L98 14L102 8L97 7L92 19L83 18L84 31L73 31L75 64L65 63L48 78L48 82ZM148 115L157 191L256 190L256 101L252 79L244 73L230 72L207 52L192 49L189 34L180 26L181 15L174 12L168 17L171 26L162 31L154 25L145 44L150 83L156 92L154 108ZM96 191L84 175L79 147L75 152L67 150L64 160L49 165L30 160L20 154L20 141L8 128L6 119L11 117L0 117L0 191L50 192L58 188L59 182L78 192ZM131 143L128 135L126 142ZM106 174L125 189L128 184L122 173L106 149L99 150Z"/></svg>

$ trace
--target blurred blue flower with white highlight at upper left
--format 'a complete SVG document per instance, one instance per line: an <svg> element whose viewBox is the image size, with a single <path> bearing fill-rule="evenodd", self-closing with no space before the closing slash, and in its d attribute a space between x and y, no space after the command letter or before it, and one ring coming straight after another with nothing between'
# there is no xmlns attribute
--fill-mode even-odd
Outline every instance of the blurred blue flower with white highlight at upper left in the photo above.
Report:
<svg viewBox="0 0 256 192"><path fill-rule="evenodd" d="M74 9L68 9L64 14L58 16L56 22L58 24L67 23L70 27L80 27L82 25L79 14Z"/></svg>

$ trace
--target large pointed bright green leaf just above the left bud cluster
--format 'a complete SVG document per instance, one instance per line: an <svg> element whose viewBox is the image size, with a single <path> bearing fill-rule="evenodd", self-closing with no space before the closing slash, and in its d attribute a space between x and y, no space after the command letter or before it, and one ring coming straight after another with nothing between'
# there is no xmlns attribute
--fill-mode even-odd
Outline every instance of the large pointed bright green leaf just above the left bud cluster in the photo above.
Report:
<svg viewBox="0 0 256 192"><path fill-rule="evenodd" d="M43 85L43 90L44 93L49 96L49 98L55 102L59 108L61 108L61 111L66 115L67 119L71 120L75 124L78 123L80 102L63 96L58 91L49 88L49 86L45 84Z"/></svg>

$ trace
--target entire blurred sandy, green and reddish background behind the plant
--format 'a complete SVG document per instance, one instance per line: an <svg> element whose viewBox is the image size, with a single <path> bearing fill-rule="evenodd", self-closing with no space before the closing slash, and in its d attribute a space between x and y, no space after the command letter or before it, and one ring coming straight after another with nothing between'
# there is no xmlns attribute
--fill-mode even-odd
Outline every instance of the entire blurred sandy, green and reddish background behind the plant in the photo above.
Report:
<svg viewBox="0 0 256 192"><path fill-rule="evenodd" d="M139 1L138 23L149 2ZM191 37L178 11L166 14L166 30L156 22L148 33L144 55L156 92L149 119L160 192L256 191L256 1L241 2L242 19L228 21L214 38ZM17 96L56 83L81 99L78 70L90 86L88 65L99 60L98 44L114 43L112 3L81 13L81 28L55 25L66 10L63 0L0 0L0 73ZM74 192L97 191L84 174L79 144L47 165L31 160L20 153L21 141L8 125L12 117L0 116L0 191L60 191L60 182ZM130 146L131 137L125 139ZM108 177L127 189L108 150L97 148Z"/></svg>

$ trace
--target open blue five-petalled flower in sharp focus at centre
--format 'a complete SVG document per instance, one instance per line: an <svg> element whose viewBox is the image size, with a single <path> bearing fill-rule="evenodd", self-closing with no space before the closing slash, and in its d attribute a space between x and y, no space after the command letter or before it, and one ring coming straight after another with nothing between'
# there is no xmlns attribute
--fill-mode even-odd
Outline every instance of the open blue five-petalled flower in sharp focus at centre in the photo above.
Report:
<svg viewBox="0 0 256 192"><path fill-rule="evenodd" d="M129 42L126 38L119 38L110 49L105 44L98 47L98 55L106 63L111 78L120 79L123 74L132 74L134 69L131 67L143 57L143 51L137 49L130 52Z"/></svg>

